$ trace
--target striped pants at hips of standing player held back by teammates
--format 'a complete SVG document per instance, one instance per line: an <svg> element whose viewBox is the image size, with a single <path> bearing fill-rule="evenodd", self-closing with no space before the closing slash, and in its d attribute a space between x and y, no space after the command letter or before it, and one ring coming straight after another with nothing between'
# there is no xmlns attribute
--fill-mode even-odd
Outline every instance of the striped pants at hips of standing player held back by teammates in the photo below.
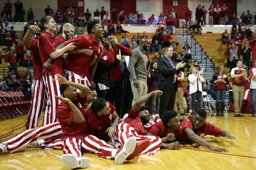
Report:
<svg viewBox="0 0 256 170"><path fill-rule="evenodd" d="M68 81L72 81L72 82L75 82L75 83L80 83L80 84L84 84L86 86L90 86L90 82L88 80L88 78L85 76L84 78L71 72L71 71L68 71L66 69L63 69L63 72L64 72L64 77L66 77L66 79Z"/></svg>

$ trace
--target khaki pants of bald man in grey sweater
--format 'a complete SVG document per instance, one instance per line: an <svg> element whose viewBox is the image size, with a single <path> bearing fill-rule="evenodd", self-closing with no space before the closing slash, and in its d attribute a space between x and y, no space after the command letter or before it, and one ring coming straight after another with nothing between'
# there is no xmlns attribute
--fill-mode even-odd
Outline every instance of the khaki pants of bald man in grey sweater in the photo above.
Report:
<svg viewBox="0 0 256 170"><path fill-rule="evenodd" d="M132 94L133 94L133 100L132 100L132 106L139 100L139 98L148 92L148 86L146 81L138 80L139 81L139 88L136 89L134 87L133 81L131 81L132 86ZM145 106L145 102L141 105Z"/></svg>

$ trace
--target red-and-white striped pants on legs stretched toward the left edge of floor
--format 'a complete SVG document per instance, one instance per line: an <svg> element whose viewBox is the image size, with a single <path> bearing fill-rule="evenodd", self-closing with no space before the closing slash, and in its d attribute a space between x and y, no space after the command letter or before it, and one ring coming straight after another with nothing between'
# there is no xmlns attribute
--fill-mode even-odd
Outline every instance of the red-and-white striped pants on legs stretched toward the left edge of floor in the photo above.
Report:
<svg viewBox="0 0 256 170"><path fill-rule="evenodd" d="M43 127L37 127L33 129L27 129L24 132L17 134L16 136L4 141L7 144L11 153L23 148L28 143L39 139L56 138L62 135L62 129L59 122L52 123ZM60 139L46 143L42 148L55 148L54 146L60 146L58 141ZM58 148L58 147L57 147Z"/></svg>

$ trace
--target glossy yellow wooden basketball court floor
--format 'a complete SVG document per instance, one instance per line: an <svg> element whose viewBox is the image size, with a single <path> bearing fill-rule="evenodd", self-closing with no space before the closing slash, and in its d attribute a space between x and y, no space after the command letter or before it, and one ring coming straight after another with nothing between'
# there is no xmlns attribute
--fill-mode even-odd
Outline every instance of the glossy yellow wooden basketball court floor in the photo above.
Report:
<svg viewBox="0 0 256 170"><path fill-rule="evenodd" d="M213 113L215 115L215 113ZM89 169L96 170L144 170L144 169L177 169L177 170L201 170L201 169L256 169L256 119L251 114L246 117L235 118L233 113L227 113L225 117L208 116L206 121L223 128L235 136L237 140L206 136L203 139L214 146L230 150L229 153L213 152L205 147L194 149L189 144L183 144L181 150L160 149L154 155L140 155L138 159L117 165L114 160L98 157L94 153L83 153L83 157L91 160ZM9 134L12 127L15 131L2 141L13 137L25 130L27 116L0 121L0 138ZM21 125L20 125L21 124ZM39 125L42 124L40 120ZM40 148L23 148L15 153L4 152L0 155L1 170L60 170L69 169L60 162L62 150L43 150Z"/></svg>

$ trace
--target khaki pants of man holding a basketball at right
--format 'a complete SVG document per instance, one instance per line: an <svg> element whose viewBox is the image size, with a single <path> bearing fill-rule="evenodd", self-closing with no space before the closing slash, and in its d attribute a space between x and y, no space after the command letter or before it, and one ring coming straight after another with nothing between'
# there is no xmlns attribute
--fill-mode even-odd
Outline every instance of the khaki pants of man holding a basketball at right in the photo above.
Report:
<svg viewBox="0 0 256 170"><path fill-rule="evenodd" d="M235 114L240 114L240 109L242 106L243 96L244 96L244 86L233 85L233 95L234 95L234 107Z"/></svg>

